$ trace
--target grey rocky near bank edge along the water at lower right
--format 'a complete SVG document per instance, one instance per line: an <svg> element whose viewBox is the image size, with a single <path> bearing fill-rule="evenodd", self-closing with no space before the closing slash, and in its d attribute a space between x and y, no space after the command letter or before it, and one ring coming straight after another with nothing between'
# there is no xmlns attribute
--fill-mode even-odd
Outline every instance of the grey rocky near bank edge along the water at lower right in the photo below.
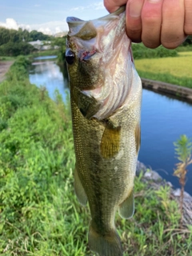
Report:
<svg viewBox="0 0 192 256"><path fill-rule="evenodd" d="M149 188L159 190L161 186L170 187L170 198L180 203L180 188L174 188L171 182L166 182L156 171L147 168L142 162L138 161L136 176L143 173L142 182L146 182ZM184 191L183 197L183 224L185 226L192 225L192 195Z"/></svg>

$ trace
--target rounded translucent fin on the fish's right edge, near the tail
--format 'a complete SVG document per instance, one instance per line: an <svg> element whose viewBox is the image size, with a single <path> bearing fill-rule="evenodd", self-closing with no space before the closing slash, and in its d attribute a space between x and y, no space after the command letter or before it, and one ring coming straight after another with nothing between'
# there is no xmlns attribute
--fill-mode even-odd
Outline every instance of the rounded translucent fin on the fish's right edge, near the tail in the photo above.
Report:
<svg viewBox="0 0 192 256"><path fill-rule="evenodd" d="M134 190L132 190L124 202L119 206L118 214L122 218L131 218L134 214Z"/></svg>

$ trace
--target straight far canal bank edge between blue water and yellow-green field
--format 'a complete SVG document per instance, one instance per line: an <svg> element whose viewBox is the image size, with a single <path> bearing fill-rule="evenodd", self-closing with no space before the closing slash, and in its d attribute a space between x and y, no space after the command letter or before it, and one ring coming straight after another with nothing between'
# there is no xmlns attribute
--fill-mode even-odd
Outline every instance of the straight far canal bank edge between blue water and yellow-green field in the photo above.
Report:
<svg viewBox="0 0 192 256"><path fill-rule="evenodd" d="M147 90L153 90L159 94L172 95L174 98L185 100L186 102L192 103L192 89L177 86L167 82L160 82L155 80L150 80L146 78L142 79L142 87Z"/></svg>

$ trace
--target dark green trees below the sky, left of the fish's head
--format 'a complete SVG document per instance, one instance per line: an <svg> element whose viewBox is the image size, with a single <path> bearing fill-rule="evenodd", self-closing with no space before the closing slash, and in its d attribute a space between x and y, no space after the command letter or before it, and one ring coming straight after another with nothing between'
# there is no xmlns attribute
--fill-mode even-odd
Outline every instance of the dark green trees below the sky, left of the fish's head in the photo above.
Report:
<svg viewBox="0 0 192 256"><path fill-rule="evenodd" d="M34 52L34 46L28 42L31 41L47 41L51 40L52 36L38 32L37 30L9 30L5 27L0 27L0 55L1 56L18 56L20 54L30 54Z"/></svg>

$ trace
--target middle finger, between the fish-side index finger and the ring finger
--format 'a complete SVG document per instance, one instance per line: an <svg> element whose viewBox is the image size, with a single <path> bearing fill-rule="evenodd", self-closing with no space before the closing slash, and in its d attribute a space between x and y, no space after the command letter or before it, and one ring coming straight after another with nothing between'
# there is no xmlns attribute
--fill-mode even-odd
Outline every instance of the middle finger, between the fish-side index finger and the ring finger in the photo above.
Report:
<svg viewBox="0 0 192 256"><path fill-rule="evenodd" d="M149 48L161 44L163 0L145 0L142 7L142 42Z"/></svg>

